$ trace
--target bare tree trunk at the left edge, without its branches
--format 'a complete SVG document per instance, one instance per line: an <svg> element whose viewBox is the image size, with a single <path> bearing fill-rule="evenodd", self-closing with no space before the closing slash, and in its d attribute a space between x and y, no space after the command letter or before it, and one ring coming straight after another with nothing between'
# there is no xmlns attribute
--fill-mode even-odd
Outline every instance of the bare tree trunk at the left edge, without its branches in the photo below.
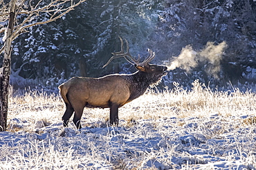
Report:
<svg viewBox="0 0 256 170"><path fill-rule="evenodd" d="M8 28L6 28L6 42L3 54L3 75L0 81L0 131L6 131L8 114L8 87L10 82L10 54L12 45L12 30L15 21L15 3L10 1Z"/></svg>

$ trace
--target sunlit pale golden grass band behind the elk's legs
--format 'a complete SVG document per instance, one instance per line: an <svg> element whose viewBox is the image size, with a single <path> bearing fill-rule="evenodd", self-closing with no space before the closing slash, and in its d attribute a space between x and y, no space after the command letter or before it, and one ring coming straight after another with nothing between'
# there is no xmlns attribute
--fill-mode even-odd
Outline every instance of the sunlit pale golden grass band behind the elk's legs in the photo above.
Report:
<svg viewBox="0 0 256 170"><path fill-rule="evenodd" d="M199 81L194 81L192 90L187 91L174 83L174 89L164 92L148 91L143 96L120 107L119 117L126 122L139 119L159 119L165 117L186 118L189 116L241 116L254 115L256 96L253 92L233 92L212 90ZM21 118L33 126L37 121L47 124L61 122L65 111L62 98L56 94L26 92L23 96L11 96L8 120ZM93 123L96 119L107 121L109 109L84 108L82 123ZM85 122L86 121L86 122Z"/></svg>

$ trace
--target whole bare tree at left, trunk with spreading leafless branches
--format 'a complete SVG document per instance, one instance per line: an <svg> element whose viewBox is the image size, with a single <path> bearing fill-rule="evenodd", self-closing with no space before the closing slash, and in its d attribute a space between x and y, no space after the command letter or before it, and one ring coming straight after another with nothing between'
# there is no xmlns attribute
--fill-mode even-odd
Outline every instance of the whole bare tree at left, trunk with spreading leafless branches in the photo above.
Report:
<svg viewBox="0 0 256 170"><path fill-rule="evenodd" d="M1 8L0 10L4 10L4 12L0 15L0 23L5 23L8 19L8 28L5 30L5 36L3 41L5 41L3 47L0 49L0 54L3 54L3 67L0 68L0 131L6 131L7 127L7 114L8 114L8 87L10 81L10 55L11 55L11 45L12 41L19 36L26 28L33 27L34 25L41 25L44 23L50 23L52 21L56 21L56 19L60 19L60 17L64 16L80 3L86 0L78 0L76 3L73 0L55 0L51 1L44 6L44 8L40 8L40 4L44 3L44 1L38 1L34 6L29 5L30 10L24 10L23 7L26 6L24 4L25 1L21 1L17 8L17 14L15 14L17 0L10 0L6 7L9 8L8 14L5 12L5 8ZM0 5L5 6L4 2L0 0ZM66 7L67 6L67 7ZM26 7L27 9L27 7ZM50 17L45 21L35 21L39 14L50 14ZM17 25L14 29L15 23L15 15L18 14L26 14L26 19L22 21L22 23L17 22ZM8 17L9 16L9 17ZM1 25L1 24L0 24ZM0 30L3 32L3 29Z"/></svg>

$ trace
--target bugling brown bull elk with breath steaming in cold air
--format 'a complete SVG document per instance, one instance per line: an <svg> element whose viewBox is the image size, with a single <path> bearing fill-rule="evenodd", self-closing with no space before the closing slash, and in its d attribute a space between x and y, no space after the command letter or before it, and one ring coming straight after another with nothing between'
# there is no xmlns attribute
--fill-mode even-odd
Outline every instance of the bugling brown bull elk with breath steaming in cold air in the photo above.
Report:
<svg viewBox="0 0 256 170"><path fill-rule="evenodd" d="M124 57L138 71L134 74L110 74L100 78L73 77L60 85L60 94L66 105L66 111L62 116L64 127L68 125L75 111L73 123L80 129L84 107L110 108L110 124L118 126L118 108L143 95L150 85L160 82L167 74L167 67L149 64L155 57L152 50L148 49L149 55L140 63L140 55L135 59L129 54L127 40L126 52L121 38L120 41L120 52L112 52L113 56L103 67L113 59Z"/></svg>

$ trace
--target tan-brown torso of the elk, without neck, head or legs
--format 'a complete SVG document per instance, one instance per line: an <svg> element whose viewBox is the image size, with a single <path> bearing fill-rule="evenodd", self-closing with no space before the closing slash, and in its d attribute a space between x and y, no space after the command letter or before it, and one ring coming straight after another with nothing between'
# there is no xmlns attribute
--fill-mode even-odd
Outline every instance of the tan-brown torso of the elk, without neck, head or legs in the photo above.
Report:
<svg viewBox="0 0 256 170"><path fill-rule="evenodd" d="M106 108L110 101L122 106L129 98L127 82L119 74L102 78L73 77L59 88L65 103L81 103L84 107L88 104Z"/></svg>

